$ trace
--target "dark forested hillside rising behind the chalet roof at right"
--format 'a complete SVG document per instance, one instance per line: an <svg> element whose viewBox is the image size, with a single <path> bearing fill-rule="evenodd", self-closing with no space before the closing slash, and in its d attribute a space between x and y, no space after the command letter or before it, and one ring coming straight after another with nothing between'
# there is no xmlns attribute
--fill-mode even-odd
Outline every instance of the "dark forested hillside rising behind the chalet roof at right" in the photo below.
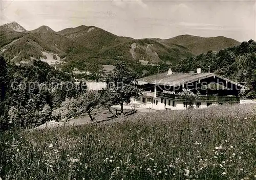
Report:
<svg viewBox="0 0 256 180"><path fill-rule="evenodd" d="M236 47L229 47L220 52L208 51L196 57L181 60L173 66L176 72L196 71L215 72L230 80L251 88L250 97L255 97L256 83L256 42L249 40Z"/></svg>

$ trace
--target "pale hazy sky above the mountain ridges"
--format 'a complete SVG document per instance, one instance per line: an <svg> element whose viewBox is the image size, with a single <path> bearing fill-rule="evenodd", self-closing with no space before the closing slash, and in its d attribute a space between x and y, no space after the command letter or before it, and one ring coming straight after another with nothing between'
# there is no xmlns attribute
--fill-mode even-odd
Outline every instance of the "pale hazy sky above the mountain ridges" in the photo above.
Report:
<svg viewBox="0 0 256 180"><path fill-rule="evenodd" d="M0 1L0 24L16 21L27 30L94 25L136 39L190 34L256 40L256 1Z"/></svg>

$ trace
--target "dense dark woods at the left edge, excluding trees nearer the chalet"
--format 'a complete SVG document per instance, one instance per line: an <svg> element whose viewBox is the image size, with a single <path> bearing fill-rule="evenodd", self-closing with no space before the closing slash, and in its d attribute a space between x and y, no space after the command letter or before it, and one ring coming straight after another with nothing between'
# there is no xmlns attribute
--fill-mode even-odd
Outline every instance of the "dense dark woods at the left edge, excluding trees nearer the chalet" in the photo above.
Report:
<svg viewBox="0 0 256 180"><path fill-rule="evenodd" d="M70 74L56 71L45 62L33 60L16 66L0 56L0 131L52 120L54 109L81 92L82 86L75 87Z"/></svg>

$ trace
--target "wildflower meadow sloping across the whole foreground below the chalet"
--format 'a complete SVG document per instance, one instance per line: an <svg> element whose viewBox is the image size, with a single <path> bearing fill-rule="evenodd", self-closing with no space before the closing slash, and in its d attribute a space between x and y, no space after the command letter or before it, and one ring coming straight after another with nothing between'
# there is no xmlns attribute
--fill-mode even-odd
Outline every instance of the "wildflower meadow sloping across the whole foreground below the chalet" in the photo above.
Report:
<svg viewBox="0 0 256 180"><path fill-rule="evenodd" d="M256 179L255 111L255 105L159 111L1 133L0 177Z"/></svg>

